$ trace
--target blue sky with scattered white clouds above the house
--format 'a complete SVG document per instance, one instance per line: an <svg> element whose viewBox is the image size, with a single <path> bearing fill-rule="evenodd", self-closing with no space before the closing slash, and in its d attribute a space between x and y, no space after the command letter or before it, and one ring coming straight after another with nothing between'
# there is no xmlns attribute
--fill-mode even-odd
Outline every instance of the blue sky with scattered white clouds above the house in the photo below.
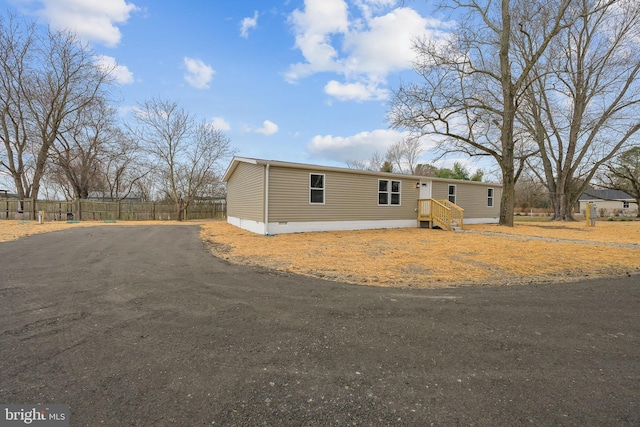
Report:
<svg viewBox="0 0 640 427"><path fill-rule="evenodd" d="M117 64L122 111L151 98L177 101L224 130L241 156L333 166L402 139L386 114L390 91L415 78L411 40L448 28L425 0L0 5L76 32Z"/></svg>

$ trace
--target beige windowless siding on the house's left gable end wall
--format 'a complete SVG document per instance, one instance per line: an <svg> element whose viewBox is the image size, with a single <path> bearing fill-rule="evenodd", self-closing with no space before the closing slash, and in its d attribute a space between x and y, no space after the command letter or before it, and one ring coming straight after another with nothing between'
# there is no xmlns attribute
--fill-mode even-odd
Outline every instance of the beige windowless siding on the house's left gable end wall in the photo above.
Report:
<svg viewBox="0 0 640 427"><path fill-rule="evenodd" d="M264 166L241 162L227 182L227 216L264 221Z"/></svg>

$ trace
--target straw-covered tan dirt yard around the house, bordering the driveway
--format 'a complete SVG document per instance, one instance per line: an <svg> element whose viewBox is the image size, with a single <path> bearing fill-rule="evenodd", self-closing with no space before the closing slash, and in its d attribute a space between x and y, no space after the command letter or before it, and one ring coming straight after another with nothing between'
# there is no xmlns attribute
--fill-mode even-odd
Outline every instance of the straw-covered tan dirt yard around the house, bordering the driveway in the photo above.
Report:
<svg viewBox="0 0 640 427"><path fill-rule="evenodd" d="M118 222L118 225L176 224ZM232 263L347 283L449 287L573 281L640 272L640 222L468 225L465 232L387 229L262 236L222 221L200 225L211 252ZM0 221L0 242L103 222Z"/></svg>

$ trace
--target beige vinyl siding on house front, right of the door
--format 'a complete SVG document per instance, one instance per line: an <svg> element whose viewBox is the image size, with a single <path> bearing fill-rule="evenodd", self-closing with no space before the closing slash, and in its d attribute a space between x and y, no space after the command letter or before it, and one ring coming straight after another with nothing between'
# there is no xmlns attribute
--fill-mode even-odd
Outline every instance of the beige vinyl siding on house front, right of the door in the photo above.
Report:
<svg viewBox="0 0 640 427"><path fill-rule="evenodd" d="M449 185L456 186L456 205L464 209L465 218L493 218L500 215L502 188L490 184L465 181L433 183L432 197L448 200ZM487 206L487 189L493 188L493 207Z"/></svg>

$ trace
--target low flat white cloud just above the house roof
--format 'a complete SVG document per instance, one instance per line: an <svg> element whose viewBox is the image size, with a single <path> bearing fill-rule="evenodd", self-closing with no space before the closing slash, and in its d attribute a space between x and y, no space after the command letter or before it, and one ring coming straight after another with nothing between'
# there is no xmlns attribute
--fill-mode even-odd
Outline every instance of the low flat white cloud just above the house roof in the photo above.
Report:
<svg viewBox="0 0 640 427"><path fill-rule="evenodd" d="M307 145L314 156L346 163L348 160L368 160L376 152L383 154L394 143L401 141L408 132L378 129L360 132L352 136L317 135Z"/></svg>

